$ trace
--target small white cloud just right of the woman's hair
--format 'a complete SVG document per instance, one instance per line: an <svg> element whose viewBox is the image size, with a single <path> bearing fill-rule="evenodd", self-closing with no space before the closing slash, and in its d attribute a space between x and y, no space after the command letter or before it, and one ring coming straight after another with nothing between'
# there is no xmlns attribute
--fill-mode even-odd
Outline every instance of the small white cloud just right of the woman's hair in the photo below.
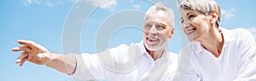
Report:
<svg viewBox="0 0 256 81"><path fill-rule="evenodd" d="M233 17L236 16L236 9L235 8L230 8L230 9L222 9L222 14L223 14L223 17L224 19L231 19Z"/></svg>

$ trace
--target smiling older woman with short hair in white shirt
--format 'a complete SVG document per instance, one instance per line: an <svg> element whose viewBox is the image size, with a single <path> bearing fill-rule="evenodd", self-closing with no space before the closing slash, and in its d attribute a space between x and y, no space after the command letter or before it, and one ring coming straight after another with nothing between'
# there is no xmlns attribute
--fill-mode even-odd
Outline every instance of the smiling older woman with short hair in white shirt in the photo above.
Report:
<svg viewBox="0 0 256 81"><path fill-rule="evenodd" d="M220 28L221 8L213 0L178 1L189 40L180 52L174 81L256 81L256 43L245 29Z"/></svg>

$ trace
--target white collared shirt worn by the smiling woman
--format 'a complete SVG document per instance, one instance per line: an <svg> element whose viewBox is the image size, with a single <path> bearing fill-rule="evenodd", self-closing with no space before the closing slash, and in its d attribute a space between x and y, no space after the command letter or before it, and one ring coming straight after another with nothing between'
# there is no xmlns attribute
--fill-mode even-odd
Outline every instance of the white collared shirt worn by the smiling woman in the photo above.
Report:
<svg viewBox="0 0 256 81"><path fill-rule="evenodd" d="M241 28L221 30L224 46L218 58L199 42L189 43L183 48L177 68L182 81L256 81L256 43L253 35Z"/></svg>

